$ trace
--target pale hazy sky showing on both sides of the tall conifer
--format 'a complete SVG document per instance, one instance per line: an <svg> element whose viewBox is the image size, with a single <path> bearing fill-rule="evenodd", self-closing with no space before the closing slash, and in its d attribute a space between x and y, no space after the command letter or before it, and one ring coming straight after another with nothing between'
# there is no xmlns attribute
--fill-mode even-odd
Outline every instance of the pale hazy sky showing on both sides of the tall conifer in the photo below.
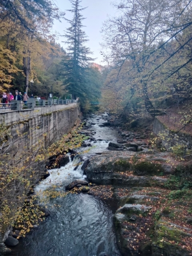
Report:
<svg viewBox="0 0 192 256"><path fill-rule="evenodd" d="M66 12L66 18L71 19L71 13L66 11L71 9L69 0L56 0L55 3L61 11ZM84 31L89 38L87 46L90 47L93 52L92 57L97 58L95 62L100 64L102 64L102 55L99 53L101 50L99 43L102 42L100 33L102 23L108 18L108 15L113 16L115 14L115 9L110 3L111 0L82 0L81 2L82 7L88 7L86 10L82 11L83 17L86 18L83 21L83 25L86 26L84 27ZM63 31L69 26L70 25L65 20L62 20L61 23L56 21L53 26L53 32L57 31L62 35L64 34ZM65 49L67 46L65 43L61 42L64 40L64 37L59 36L59 39L56 41Z"/></svg>

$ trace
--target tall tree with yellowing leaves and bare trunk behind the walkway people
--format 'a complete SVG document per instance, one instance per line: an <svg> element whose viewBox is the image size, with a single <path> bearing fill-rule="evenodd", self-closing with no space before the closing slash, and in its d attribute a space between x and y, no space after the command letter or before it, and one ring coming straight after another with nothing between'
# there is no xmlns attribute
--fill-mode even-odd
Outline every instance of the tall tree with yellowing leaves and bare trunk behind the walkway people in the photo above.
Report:
<svg viewBox="0 0 192 256"><path fill-rule="evenodd" d="M33 74L31 56L35 49L34 42L45 46L45 40L52 38L50 29L53 20L63 15L54 2L49 0L3 0L0 3L0 27L6 39L6 48L15 52L20 44L19 50L23 50L19 54L23 55L20 59L26 77L26 92L29 78ZM11 44L14 45L12 48Z"/></svg>

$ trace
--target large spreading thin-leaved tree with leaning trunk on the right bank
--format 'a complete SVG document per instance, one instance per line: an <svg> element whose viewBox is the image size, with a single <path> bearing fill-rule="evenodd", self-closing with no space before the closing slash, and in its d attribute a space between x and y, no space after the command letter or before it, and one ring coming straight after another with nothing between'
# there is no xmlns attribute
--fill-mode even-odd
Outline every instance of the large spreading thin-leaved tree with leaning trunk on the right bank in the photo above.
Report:
<svg viewBox="0 0 192 256"><path fill-rule="evenodd" d="M165 68L162 65L166 62L166 45L192 24L191 1L144 0L141 3L139 0L122 0L115 7L119 16L109 19L103 27L104 47L110 46L110 57L118 69L117 76L126 65L126 79L131 81L131 87L142 91L148 113L157 115L159 111L150 99L148 88L154 80L154 71ZM182 49L183 45L178 49ZM168 57L174 56L175 52L168 53ZM177 71L177 68L174 67L174 70ZM175 71L172 71L170 74L173 75ZM123 76L125 78L125 74Z"/></svg>

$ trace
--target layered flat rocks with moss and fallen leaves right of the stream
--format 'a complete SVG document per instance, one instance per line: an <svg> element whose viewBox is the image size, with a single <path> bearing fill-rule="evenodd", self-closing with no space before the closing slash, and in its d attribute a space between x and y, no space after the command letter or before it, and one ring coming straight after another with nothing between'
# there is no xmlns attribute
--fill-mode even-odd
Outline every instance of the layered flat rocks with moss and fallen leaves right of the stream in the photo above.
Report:
<svg viewBox="0 0 192 256"><path fill-rule="evenodd" d="M169 187L179 163L168 152L152 150L147 133L119 135L89 159L84 173L88 194L117 204L113 222L122 255L192 255L191 197L178 197Z"/></svg>

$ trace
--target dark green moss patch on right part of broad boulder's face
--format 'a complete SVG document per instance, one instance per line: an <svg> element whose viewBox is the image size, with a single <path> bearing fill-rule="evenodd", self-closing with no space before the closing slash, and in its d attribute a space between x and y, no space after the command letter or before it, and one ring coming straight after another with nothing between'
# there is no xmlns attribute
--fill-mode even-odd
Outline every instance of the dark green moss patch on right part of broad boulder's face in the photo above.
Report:
<svg viewBox="0 0 192 256"><path fill-rule="evenodd" d="M160 173L162 173L164 171L164 169L160 163L153 163L153 162L149 162L149 161L142 161L142 162L134 164L133 170L134 170L135 175L140 175L140 176L159 175Z"/></svg>

